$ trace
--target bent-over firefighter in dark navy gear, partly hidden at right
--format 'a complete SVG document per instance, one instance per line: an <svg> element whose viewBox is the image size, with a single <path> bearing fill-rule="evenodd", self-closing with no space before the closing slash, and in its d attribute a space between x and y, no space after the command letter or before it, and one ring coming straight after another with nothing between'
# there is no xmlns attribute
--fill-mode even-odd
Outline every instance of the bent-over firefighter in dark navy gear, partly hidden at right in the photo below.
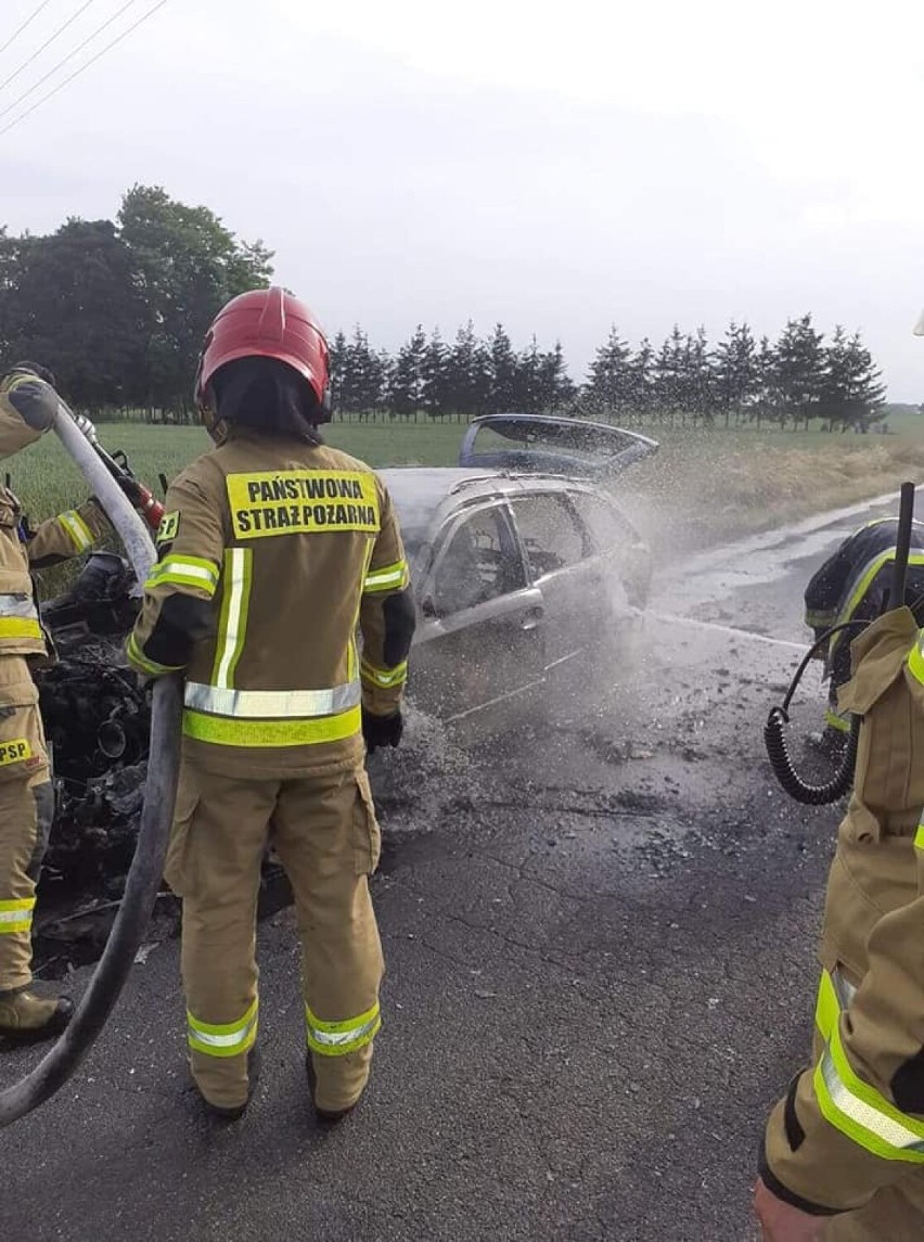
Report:
<svg viewBox="0 0 924 1242"><path fill-rule="evenodd" d="M846 621L872 621L887 602L895 559L897 518L868 522L843 540L811 578L805 590L805 622L821 638ZM924 622L924 524L912 528L905 602L919 623ZM826 750L837 750L851 729L849 718L837 705L837 692L849 681L851 640L856 631L841 630L820 650L828 678L825 730L815 738Z"/></svg>

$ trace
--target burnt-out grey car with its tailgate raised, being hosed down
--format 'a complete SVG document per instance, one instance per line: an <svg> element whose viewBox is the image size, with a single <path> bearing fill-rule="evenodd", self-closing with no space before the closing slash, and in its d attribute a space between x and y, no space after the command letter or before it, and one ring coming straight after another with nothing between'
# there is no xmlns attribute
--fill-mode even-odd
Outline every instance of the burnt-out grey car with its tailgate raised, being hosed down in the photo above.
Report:
<svg viewBox="0 0 924 1242"><path fill-rule="evenodd" d="M471 424L457 468L381 471L417 602L415 705L507 727L515 702L618 648L647 601L651 555L609 484L656 450L605 424L491 415Z"/></svg>

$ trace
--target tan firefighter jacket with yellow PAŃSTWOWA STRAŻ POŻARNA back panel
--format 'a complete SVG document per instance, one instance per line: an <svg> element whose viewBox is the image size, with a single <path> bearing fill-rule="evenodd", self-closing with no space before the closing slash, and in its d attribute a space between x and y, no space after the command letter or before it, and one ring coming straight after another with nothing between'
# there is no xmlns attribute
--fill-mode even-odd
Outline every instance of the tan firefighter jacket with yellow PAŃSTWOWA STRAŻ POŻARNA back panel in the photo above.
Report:
<svg viewBox="0 0 924 1242"><path fill-rule="evenodd" d="M391 498L325 445L233 428L173 483L127 653L185 673L184 754L230 776L353 766L414 633ZM361 635L361 660L356 630Z"/></svg>

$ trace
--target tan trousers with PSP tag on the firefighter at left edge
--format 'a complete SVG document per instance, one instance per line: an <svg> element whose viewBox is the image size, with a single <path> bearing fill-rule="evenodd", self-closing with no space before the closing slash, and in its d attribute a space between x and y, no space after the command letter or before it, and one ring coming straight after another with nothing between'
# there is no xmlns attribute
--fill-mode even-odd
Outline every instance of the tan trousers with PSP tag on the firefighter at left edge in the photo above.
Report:
<svg viewBox="0 0 924 1242"><path fill-rule="evenodd" d="M21 656L0 656L0 992L32 981L35 887L53 814L38 692Z"/></svg>

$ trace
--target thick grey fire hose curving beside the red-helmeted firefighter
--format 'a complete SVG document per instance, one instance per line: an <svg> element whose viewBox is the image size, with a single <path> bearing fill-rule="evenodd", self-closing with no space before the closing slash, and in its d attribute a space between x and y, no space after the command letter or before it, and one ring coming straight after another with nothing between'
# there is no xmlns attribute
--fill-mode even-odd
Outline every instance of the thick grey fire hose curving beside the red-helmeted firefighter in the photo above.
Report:
<svg viewBox="0 0 924 1242"><path fill-rule="evenodd" d="M58 438L106 509L124 544L138 581L143 582L155 559L150 535L122 483L107 465L108 455L104 450L101 452L98 442L94 443L92 425L92 436L83 432L81 425L86 425L86 420L75 419L67 406L60 402L55 424ZM145 519L148 525L153 524L150 509L145 509ZM160 520L159 517L156 520ZM163 876L176 797L181 708L179 679L160 678L154 687L150 758L138 843L118 915L70 1026L25 1078L0 1092L0 1128L38 1108L67 1082L104 1027L125 984Z"/></svg>

